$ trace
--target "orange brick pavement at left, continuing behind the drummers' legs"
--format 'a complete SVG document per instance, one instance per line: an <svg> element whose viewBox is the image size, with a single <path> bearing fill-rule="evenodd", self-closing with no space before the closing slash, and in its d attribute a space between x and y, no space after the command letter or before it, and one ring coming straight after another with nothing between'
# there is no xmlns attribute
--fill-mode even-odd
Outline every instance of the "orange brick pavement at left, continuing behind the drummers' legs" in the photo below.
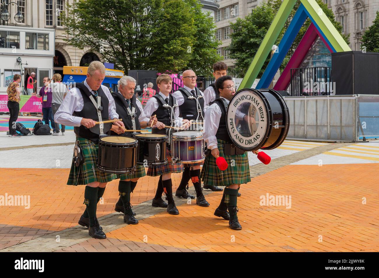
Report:
<svg viewBox="0 0 379 278"><path fill-rule="evenodd" d="M30 208L0 206L0 224L60 231L78 225L85 185L66 185L69 169L0 168L0 195L30 195ZM179 185L181 174L173 174ZM104 203L97 206L97 217L114 212L119 196L118 181L108 183ZM141 178L132 193L132 205L151 200L158 177ZM175 187L176 188L176 187Z"/></svg>

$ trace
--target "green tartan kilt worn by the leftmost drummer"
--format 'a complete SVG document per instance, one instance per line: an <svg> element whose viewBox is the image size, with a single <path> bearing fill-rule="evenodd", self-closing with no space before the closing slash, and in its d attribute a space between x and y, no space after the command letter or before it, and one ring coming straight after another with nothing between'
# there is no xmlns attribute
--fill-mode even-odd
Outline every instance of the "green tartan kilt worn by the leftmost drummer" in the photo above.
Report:
<svg viewBox="0 0 379 278"><path fill-rule="evenodd" d="M84 161L78 167L72 162L67 185L87 185L91 182L110 182L117 179L115 174L104 173L97 169L99 144L92 144L94 142L80 137L77 137L76 140L79 140Z"/></svg>

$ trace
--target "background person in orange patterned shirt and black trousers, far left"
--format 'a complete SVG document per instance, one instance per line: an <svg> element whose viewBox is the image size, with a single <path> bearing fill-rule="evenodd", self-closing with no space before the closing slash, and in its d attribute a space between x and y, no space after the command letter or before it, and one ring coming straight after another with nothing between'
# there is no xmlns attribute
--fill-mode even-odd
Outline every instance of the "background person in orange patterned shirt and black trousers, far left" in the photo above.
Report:
<svg viewBox="0 0 379 278"><path fill-rule="evenodd" d="M16 121L20 112L20 75L13 76L13 82L9 84L6 93L8 94L8 109L9 109L9 137L22 137L16 132Z"/></svg>

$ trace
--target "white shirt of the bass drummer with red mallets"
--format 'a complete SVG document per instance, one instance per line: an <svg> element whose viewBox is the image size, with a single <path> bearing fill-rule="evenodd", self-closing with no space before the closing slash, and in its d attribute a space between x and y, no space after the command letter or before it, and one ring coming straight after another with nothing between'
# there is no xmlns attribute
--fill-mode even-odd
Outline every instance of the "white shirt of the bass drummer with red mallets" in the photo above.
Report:
<svg viewBox="0 0 379 278"><path fill-rule="evenodd" d="M223 98L223 97L220 96L220 98ZM223 99L225 99L227 104L229 105L229 100L227 100L226 98L223 98ZM213 103L207 109L207 112L205 112L203 136L204 136L204 141L207 142L207 148L211 150L217 148L216 133L218 130L218 126L220 124L221 114L222 114L221 109L217 103Z"/></svg>

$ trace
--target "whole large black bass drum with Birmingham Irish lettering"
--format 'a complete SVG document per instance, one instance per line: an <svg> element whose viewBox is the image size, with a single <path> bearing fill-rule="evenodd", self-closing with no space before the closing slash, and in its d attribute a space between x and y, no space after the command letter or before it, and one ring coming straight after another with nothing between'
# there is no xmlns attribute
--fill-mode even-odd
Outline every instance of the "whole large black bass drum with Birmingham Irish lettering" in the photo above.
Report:
<svg viewBox="0 0 379 278"><path fill-rule="evenodd" d="M239 90L230 100L226 117L230 138L245 151L279 147L290 128L287 104L272 89Z"/></svg>

